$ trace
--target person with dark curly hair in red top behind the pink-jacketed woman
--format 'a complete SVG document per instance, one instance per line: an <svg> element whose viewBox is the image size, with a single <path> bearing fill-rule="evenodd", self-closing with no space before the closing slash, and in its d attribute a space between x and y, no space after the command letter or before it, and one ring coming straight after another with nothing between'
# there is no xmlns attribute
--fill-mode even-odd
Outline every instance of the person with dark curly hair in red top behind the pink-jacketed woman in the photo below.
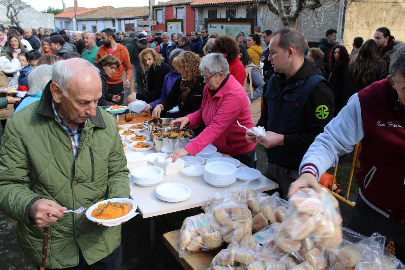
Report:
<svg viewBox="0 0 405 270"><path fill-rule="evenodd" d="M230 74L243 86L246 78L245 67L239 60L239 45L231 36L218 36L214 44L211 46L211 51L214 53L222 53L229 65Z"/></svg>

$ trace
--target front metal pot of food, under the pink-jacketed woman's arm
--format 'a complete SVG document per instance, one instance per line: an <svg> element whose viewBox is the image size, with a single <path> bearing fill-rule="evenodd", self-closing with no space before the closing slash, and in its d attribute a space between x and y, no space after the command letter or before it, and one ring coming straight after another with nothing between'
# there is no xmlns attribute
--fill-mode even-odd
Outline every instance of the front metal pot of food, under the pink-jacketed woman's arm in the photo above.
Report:
<svg viewBox="0 0 405 270"><path fill-rule="evenodd" d="M190 137L183 139L172 139L172 138L162 138L154 135L154 132L166 132L172 128L159 128L157 130L152 130L151 135L153 135L153 146L155 147L156 152L170 153L173 150L181 149L192 140L194 137L194 131L187 128L182 130L190 132ZM179 130L180 128L173 128L173 130Z"/></svg>

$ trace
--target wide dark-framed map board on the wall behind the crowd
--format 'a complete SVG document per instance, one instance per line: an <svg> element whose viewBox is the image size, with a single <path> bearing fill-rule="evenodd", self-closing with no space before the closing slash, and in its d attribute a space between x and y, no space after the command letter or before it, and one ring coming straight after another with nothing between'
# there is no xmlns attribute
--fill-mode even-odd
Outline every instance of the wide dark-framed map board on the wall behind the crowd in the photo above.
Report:
<svg viewBox="0 0 405 270"><path fill-rule="evenodd" d="M230 21L210 21L207 23L208 34L236 36L238 32L243 32L245 36L252 32L250 22L230 22Z"/></svg>

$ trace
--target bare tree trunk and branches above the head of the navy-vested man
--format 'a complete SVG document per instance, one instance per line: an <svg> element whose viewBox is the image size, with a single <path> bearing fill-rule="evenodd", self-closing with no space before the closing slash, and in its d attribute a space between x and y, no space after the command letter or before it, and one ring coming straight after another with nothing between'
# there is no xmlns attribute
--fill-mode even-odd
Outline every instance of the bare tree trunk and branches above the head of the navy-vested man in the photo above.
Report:
<svg viewBox="0 0 405 270"><path fill-rule="evenodd" d="M315 10L322 6L320 0L266 0L267 7L277 15L283 26L297 27L298 17L304 9Z"/></svg>

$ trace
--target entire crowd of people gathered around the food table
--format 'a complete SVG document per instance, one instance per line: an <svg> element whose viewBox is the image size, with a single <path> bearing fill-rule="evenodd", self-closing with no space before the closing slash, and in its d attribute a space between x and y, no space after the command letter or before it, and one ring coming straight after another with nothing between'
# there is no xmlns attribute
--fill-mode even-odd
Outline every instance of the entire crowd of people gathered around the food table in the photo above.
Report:
<svg viewBox="0 0 405 270"><path fill-rule="evenodd" d="M3 25L0 87L18 86L15 96L0 98L0 209L19 221L23 256L39 266L40 228L57 224L49 269L119 269L120 226L61 211L129 196L121 140L104 109L143 100L152 117L175 118L172 126L196 135L168 154L173 162L212 143L255 168L260 143L264 175L279 184L283 198L301 187L318 190L319 177L361 141L359 197L348 227L367 236L379 231L395 241L403 260L405 209L396 198L405 191L405 46L387 28L365 42L354 38L350 53L336 39L330 29L309 48L287 27L234 37L204 28L189 39L134 28L49 33ZM264 127L266 136L237 121L251 130ZM61 247L68 252L57 253Z"/></svg>

